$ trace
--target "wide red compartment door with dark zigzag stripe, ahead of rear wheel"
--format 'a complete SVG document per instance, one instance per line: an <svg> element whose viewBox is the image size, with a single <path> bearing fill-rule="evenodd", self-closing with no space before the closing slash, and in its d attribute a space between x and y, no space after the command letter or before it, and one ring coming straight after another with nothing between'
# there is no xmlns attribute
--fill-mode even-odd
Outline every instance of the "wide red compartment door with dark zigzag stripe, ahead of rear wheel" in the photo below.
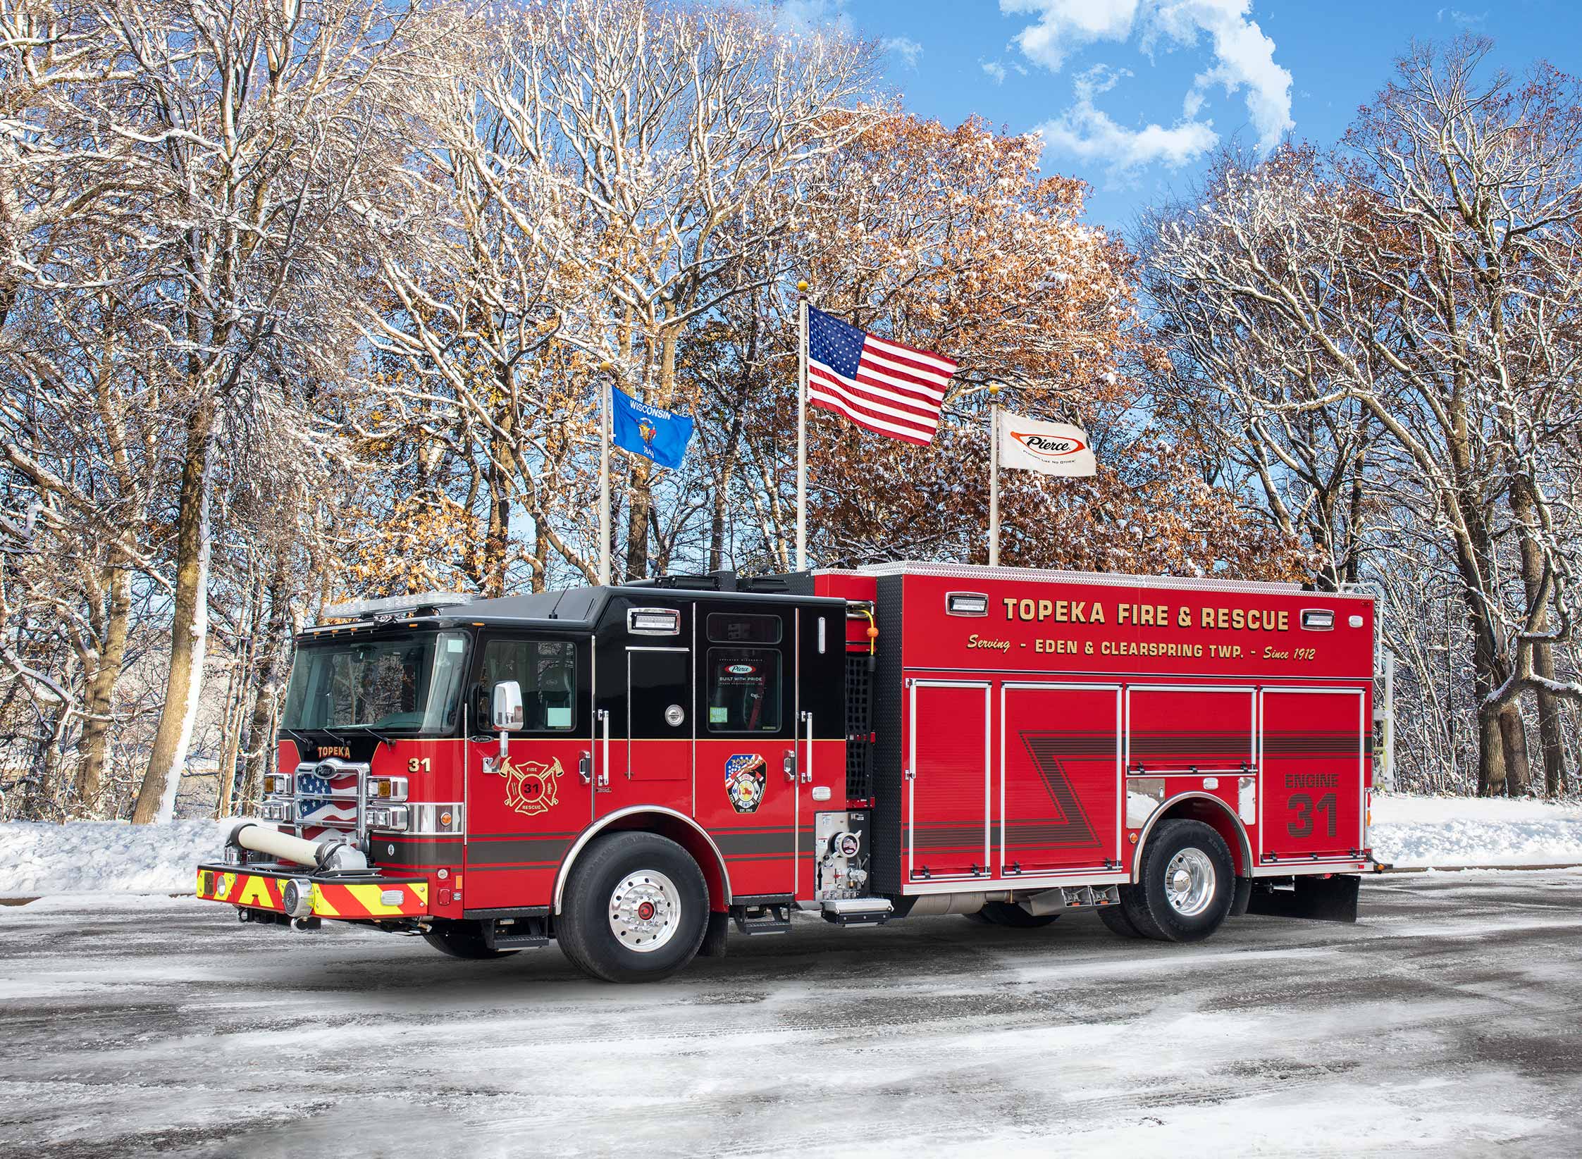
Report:
<svg viewBox="0 0 1582 1159"><path fill-rule="evenodd" d="M1000 873L1120 859L1120 686L1000 686Z"/></svg>

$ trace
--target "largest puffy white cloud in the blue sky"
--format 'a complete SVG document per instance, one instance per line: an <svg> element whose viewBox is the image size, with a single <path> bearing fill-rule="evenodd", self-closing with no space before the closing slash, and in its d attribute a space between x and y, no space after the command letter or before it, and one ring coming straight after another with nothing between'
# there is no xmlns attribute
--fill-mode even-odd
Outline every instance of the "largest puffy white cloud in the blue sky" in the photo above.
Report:
<svg viewBox="0 0 1582 1159"><path fill-rule="evenodd" d="M1052 71L1060 71L1073 51L1098 41L1128 41L1136 35L1139 47L1152 54L1161 41L1166 47L1190 47L1201 33L1207 33L1213 62L1193 77L1182 98L1182 123L1169 130L1158 125L1136 133L1123 130L1092 106L1092 95L1111 85L1090 84L1084 98L1079 84L1077 104L1050 123L1085 126L1087 131L1079 136L1084 142L1109 139L1122 145L1147 138L1155 142L1160 160L1185 157L1198 150L1198 142L1205 138L1207 147L1212 147L1218 138L1210 122L1198 120L1198 114L1213 87L1224 89L1228 95L1247 92L1247 111L1259 149L1274 149L1294 126L1291 73L1275 63L1275 43L1251 19L1251 0L1000 0L1000 9L1036 17L1017 33L1014 43L1031 62ZM1111 126L1118 138L1109 131ZM1047 139L1054 144L1058 138ZM1115 160L1130 168L1136 164L1125 160L1131 155L1128 149Z"/></svg>

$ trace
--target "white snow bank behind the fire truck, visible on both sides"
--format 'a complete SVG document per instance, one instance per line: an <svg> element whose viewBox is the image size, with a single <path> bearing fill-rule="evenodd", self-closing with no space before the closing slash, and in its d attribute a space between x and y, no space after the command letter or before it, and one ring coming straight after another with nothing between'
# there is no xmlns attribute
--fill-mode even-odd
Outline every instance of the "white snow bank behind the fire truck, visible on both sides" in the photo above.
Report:
<svg viewBox="0 0 1582 1159"><path fill-rule="evenodd" d="M0 824L0 897L182 893L234 824ZM1375 795L1373 851L1402 866L1582 865L1582 805Z"/></svg>

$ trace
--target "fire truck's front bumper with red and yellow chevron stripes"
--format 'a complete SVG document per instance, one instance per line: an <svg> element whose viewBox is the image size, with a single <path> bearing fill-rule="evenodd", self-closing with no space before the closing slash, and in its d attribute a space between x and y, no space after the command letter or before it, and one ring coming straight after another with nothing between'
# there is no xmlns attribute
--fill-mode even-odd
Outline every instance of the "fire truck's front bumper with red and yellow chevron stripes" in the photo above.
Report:
<svg viewBox="0 0 1582 1159"><path fill-rule="evenodd" d="M429 882L380 873L307 873L291 865L199 865L198 897L283 917L343 922L424 917Z"/></svg>

